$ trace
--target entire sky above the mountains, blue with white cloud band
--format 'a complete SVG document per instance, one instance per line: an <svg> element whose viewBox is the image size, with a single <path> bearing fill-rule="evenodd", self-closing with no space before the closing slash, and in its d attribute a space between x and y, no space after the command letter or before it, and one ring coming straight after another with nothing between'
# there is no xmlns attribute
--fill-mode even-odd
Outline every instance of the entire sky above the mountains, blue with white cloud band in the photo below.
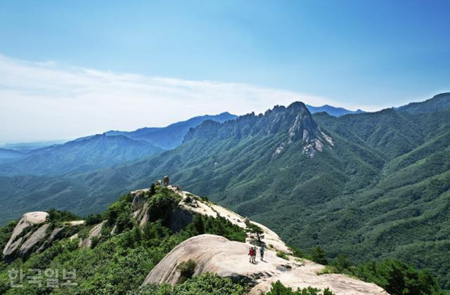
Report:
<svg viewBox="0 0 450 295"><path fill-rule="evenodd" d="M1 1L0 143L450 91L450 1Z"/></svg>

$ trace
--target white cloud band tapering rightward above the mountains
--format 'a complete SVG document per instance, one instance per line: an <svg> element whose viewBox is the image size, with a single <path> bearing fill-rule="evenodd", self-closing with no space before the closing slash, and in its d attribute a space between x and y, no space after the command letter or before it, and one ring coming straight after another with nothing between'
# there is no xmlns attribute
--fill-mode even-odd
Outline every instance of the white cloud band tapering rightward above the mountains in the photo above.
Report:
<svg viewBox="0 0 450 295"><path fill-rule="evenodd" d="M355 108L249 84L101 72L0 55L0 143L165 126L225 111L259 113L296 100Z"/></svg>

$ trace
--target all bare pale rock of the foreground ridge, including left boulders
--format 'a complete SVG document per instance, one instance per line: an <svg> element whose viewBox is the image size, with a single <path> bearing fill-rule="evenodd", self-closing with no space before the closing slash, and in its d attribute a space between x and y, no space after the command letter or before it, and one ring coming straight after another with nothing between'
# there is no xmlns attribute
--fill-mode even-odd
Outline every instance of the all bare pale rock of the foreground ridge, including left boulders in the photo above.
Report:
<svg viewBox="0 0 450 295"><path fill-rule="evenodd" d="M163 184L158 184L162 186ZM261 242L266 244L264 261L249 263L248 251L257 242L255 234L248 232L245 242L236 242L219 235L197 235L181 242L165 258L153 268L143 285L148 283L176 284L180 280L178 265L189 259L195 261L194 276L202 273L215 273L221 277L245 280L251 287L250 294L262 294L271 289L271 283L280 281L288 287L330 288L335 294L387 294L375 284L362 282L347 275L326 274L319 275L324 266L306 259L293 256L292 251L278 237L276 232L264 225L248 220L229 209L207 201L181 190L177 186L165 185L177 196L179 202L165 214L167 226L172 230L185 228L196 215L226 218L233 225L248 228L252 223L257 225L262 234ZM130 192L131 215L136 224L143 227L153 220L152 212L146 194L150 189ZM101 221L91 226L89 232L78 231L86 221L67 221L57 224L49 221L49 214L36 211L24 214L15 226L11 238L3 250L4 260L26 258L32 253L39 253L62 239L77 240L78 247L93 247L94 240L102 235ZM113 228L111 234L114 234ZM284 258L277 255L283 252Z"/></svg>

